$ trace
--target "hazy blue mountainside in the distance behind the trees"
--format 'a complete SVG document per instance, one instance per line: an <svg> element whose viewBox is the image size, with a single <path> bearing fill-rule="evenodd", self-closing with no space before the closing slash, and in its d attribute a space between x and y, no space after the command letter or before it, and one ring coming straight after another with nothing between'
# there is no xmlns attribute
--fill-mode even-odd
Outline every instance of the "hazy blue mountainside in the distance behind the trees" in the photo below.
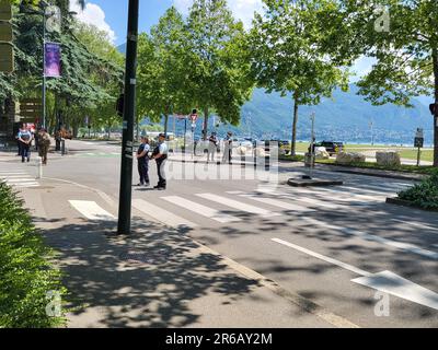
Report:
<svg viewBox="0 0 438 350"><path fill-rule="evenodd" d="M426 144L433 143L433 118L426 105L414 100L414 108L394 105L372 106L356 93L358 88L350 86L348 93L336 91L332 100L325 98L318 106L300 106L298 139L309 140L311 131L310 114L316 114L318 140L338 140L344 142L371 142L370 122L373 120L374 141L381 143L411 144L415 130L425 129ZM232 130L239 136L256 138L291 138L293 103L291 97L281 97L278 93L267 94L264 90L254 91L253 97L242 108L239 128L221 126L220 135ZM175 124L177 132L183 132L183 122ZM173 120L170 121L173 130ZM210 118L210 129L214 118ZM198 121L197 135L200 135L201 121Z"/></svg>

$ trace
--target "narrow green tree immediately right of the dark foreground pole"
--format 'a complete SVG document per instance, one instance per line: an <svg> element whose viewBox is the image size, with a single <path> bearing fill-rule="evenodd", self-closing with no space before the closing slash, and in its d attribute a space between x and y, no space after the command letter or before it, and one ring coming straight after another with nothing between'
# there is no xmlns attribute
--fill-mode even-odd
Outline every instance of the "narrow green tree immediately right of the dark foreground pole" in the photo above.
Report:
<svg viewBox="0 0 438 350"><path fill-rule="evenodd" d="M138 116L152 121L164 116L168 132L169 115L188 113L191 107L186 83L185 23L181 13L171 7L151 28L141 34L138 59Z"/></svg>

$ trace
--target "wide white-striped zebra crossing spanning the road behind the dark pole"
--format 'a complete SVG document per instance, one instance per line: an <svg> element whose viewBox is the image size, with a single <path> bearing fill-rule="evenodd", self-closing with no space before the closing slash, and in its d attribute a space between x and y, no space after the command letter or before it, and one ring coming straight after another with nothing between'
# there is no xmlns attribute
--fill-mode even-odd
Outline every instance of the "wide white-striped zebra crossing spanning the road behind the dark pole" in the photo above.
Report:
<svg viewBox="0 0 438 350"><path fill-rule="evenodd" d="M328 196L327 196L328 195ZM241 223L246 218L280 218L316 211L346 211L356 208L376 209L385 206L388 194L373 189L336 187L325 189L281 188L277 191L224 191L223 194L194 192L132 199L132 208L148 218L171 228L198 228ZM85 207L89 205L85 205ZM83 212L83 206L77 206ZM95 219L92 210L90 217ZM87 215L85 215L87 217ZM108 215L103 215L107 218Z"/></svg>

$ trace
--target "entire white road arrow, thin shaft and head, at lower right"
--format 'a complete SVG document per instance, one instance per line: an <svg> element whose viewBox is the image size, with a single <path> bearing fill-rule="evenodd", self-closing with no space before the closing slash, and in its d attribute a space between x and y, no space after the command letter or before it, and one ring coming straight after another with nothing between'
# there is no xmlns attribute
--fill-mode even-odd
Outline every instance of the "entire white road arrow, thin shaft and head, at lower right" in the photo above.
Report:
<svg viewBox="0 0 438 350"><path fill-rule="evenodd" d="M413 303L438 310L437 293L422 285L413 283L391 271L383 271L380 273L372 275L365 270L358 269L351 265L342 262L339 260L330 258L322 254L300 247L296 244L279 238L273 238L272 241L361 276L360 278L353 279L351 282L354 283L372 288L374 290L382 291L384 293L411 301Z"/></svg>

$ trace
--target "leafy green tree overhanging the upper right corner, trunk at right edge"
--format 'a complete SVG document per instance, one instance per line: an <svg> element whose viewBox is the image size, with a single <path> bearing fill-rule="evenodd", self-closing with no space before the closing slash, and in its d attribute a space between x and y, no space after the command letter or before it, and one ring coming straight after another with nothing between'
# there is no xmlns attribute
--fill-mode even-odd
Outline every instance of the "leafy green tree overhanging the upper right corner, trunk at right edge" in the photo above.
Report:
<svg viewBox="0 0 438 350"><path fill-rule="evenodd" d="M411 106L411 97L435 96L434 165L438 166L438 7L436 0L337 1L333 42L377 63L358 85L376 105ZM339 28L341 26L338 26Z"/></svg>

